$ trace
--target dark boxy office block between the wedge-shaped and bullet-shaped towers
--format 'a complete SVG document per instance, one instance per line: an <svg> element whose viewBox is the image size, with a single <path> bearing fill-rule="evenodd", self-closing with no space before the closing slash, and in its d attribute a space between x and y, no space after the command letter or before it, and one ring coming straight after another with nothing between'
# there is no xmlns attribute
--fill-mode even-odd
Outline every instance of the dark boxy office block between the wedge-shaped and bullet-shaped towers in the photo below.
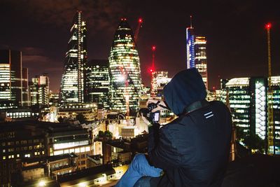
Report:
<svg viewBox="0 0 280 187"><path fill-rule="evenodd" d="M85 102L109 109L109 61L90 60L85 67Z"/></svg>

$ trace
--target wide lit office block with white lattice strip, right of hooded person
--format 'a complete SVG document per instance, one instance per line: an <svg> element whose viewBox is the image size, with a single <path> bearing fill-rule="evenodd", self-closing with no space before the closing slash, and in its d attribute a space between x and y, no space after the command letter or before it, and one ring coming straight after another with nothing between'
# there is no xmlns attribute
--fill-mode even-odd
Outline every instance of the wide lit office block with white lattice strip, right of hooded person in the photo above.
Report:
<svg viewBox="0 0 280 187"><path fill-rule="evenodd" d="M246 77L222 80L222 101L230 106L232 122L246 135L267 139L267 78ZM280 154L280 76L272 76L274 147Z"/></svg>

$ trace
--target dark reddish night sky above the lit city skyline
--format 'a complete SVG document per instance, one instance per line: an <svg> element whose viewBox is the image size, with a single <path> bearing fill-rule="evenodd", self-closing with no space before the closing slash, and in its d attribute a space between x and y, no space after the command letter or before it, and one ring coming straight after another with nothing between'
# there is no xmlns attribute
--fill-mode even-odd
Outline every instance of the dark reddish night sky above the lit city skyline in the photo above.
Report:
<svg viewBox="0 0 280 187"><path fill-rule="evenodd" d="M220 78L267 75L265 23L272 22L272 75L280 75L280 12L277 1L1 0L0 49L22 51L29 78L48 73L59 90L69 30L76 10L87 22L88 60L108 59L120 18L132 29L144 19L137 43L142 79L150 81L151 46L155 66L169 76L186 67L186 27L207 36L209 88Z"/></svg>

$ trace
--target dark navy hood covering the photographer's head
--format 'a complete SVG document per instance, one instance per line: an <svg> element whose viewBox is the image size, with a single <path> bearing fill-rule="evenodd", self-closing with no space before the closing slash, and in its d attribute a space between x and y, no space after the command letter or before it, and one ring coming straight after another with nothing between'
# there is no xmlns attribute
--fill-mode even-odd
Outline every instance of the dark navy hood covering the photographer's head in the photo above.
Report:
<svg viewBox="0 0 280 187"><path fill-rule="evenodd" d="M186 69L176 74L163 88L165 102L177 116L186 106L207 96L202 76L197 69Z"/></svg>

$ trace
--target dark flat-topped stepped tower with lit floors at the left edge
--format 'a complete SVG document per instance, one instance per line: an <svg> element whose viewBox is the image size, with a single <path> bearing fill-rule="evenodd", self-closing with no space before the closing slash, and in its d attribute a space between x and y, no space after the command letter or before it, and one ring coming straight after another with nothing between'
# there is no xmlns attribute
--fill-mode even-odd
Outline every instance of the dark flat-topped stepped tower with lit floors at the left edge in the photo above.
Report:
<svg viewBox="0 0 280 187"><path fill-rule="evenodd" d="M22 68L22 52L0 50L0 100L28 106L28 69Z"/></svg>

